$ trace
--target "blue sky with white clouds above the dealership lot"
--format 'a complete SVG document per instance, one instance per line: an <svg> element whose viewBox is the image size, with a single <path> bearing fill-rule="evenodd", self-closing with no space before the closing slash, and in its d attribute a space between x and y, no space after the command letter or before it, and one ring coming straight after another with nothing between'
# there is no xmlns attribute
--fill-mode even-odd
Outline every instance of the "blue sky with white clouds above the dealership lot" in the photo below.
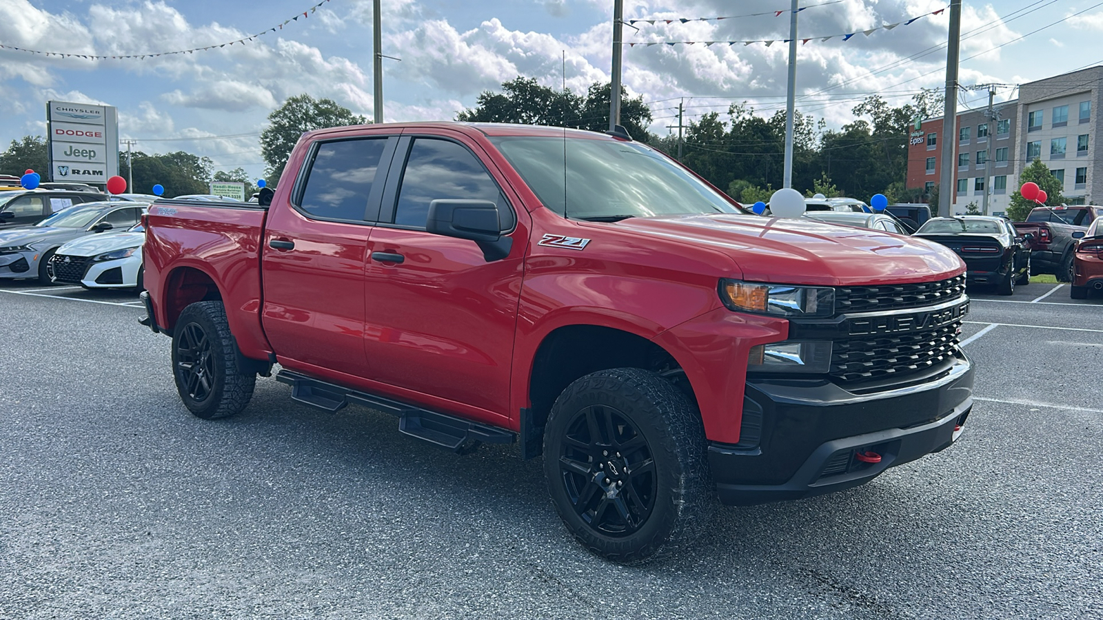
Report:
<svg viewBox="0 0 1103 620"><path fill-rule="evenodd" d="M0 141L45 133L45 101L109 104L119 135L146 152L188 150L216 169L259 175L259 132L287 97L330 97L372 116L372 0L0 0L0 45L77 55L140 55L219 45L266 32L245 45L143 60L46 57L0 50ZM902 104L944 81L949 11L910 25L859 33L946 8L947 0L801 0L797 106L829 126L871 93ZM386 120L452 119L484 89L517 75L585 90L608 81L612 0L383 0ZM788 9L790 0L624 2L629 19L748 15ZM1079 14L1077 14L1079 13ZM1103 2L966 0L963 84L1022 84L1103 62ZM269 28L299 15L276 32ZM1056 22L1056 23L1054 23ZM1049 28L1045 28L1048 24ZM625 43L788 38L786 14L636 23ZM1037 32L1036 32L1037 31ZM564 63L566 54L566 63ZM750 101L763 114L784 107L788 46L737 43L624 47L624 85L651 104L652 131ZM999 98L1013 97L1011 87ZM984 93L963 95L976 107Z"/></svg>

